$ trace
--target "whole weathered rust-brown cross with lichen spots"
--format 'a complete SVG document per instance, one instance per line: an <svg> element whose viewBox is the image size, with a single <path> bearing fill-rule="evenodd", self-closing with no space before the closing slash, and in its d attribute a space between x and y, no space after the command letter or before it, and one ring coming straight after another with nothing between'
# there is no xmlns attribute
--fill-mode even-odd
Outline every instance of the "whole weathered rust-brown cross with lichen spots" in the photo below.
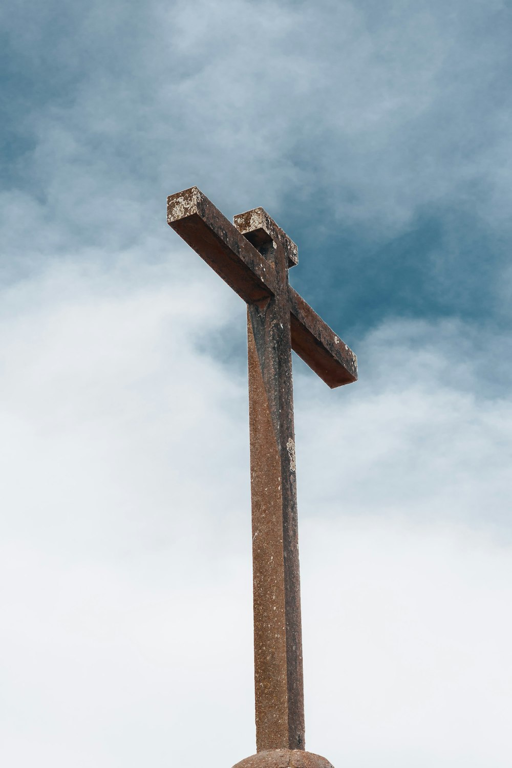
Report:
<svg viewBox="0 0 512 768"><path fill-rule="evenodd" d="M170 227L247 303L256 750L288 752L305 749L292 349L330 387L357 361L289 286L296 244L263 208L233 221L197 187L167 199Z"/></svg>

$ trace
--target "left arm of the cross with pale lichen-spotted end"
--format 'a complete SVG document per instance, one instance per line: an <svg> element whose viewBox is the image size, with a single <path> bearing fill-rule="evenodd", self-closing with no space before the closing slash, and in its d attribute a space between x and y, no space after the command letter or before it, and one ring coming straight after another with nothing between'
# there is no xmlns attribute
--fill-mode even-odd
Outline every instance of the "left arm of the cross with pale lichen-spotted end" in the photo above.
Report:
<svg viewBox="0 0 512 768"><path fill-rule="evenodd" d="M276 293L273 264L197 187L167 197L167 223L247 303Z"/></svg>

